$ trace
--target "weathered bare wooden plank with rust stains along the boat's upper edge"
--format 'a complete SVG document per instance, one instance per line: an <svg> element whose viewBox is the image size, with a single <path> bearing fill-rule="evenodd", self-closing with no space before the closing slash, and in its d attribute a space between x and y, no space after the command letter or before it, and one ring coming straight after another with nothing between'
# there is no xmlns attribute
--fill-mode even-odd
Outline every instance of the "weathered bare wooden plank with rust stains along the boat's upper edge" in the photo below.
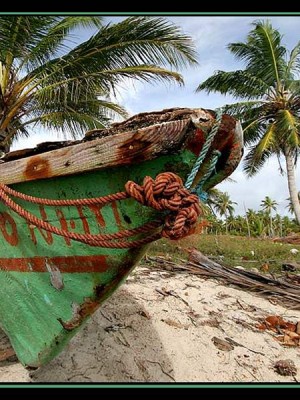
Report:
<svg viewBox="0 0 300 400"><path fill-rule="evenodd" d="M13 184L130 165L179 150L190 118L48 151L0 164L0 182Z"/></svg>

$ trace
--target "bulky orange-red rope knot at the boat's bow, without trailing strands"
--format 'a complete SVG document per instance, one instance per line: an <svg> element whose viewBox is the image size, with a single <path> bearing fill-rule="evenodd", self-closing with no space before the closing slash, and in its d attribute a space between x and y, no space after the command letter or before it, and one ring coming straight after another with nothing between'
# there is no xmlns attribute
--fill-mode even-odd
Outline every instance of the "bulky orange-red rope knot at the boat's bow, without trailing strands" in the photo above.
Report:
<svg viewBox="0 0 300 400"><path fill-rule="evenodd" d="M169 211L161 235L176 240L195 230L201 214L199 199L184 186L181 178L172 172L164 172L155 179L146 176L143 186L128 181L127 194L139 203L157 211Z"/></svg>

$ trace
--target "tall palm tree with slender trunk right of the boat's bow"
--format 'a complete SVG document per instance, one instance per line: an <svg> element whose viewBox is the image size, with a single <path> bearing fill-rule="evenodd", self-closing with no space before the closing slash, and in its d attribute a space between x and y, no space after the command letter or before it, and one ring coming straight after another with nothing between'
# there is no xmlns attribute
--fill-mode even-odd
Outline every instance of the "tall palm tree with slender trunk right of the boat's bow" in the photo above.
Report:
<svg viewBox="0 0 300 400"><path fill-rule="evenodd" d="M245 63L237 71L217 71L198 91L220 92L240 99L228 112L243 123L245 171L255 174L270 156L283 156L294 213L300 224L295 164L300 149L300 42L289 52L282 36L268 21L255 22L246 42L231 43L229 50Z"/></svg>

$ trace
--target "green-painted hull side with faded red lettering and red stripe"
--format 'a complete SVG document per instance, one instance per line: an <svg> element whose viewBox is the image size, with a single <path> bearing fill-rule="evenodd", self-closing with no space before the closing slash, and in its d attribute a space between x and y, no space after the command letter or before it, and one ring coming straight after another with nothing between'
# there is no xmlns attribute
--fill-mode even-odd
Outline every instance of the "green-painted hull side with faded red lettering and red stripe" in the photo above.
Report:
<svg viewBox="0 0 300 400"><path fill-rule="evenodd" d="M78 199L117 193L128 180L141 184L145 176L155 178L165 171L185 181L200 150L189 147L148 161L55 178L35 179L31 173L31 181L11 187L36 197ZM27 167L27 175L28 171ZM133 229L158 216L134 199L103 207L18 203L58 228L86 234ZM0 203L0 327L22 364L39 367L55 357L122 283L146 248L106 249L69 240L32 226Z"/></svg>

